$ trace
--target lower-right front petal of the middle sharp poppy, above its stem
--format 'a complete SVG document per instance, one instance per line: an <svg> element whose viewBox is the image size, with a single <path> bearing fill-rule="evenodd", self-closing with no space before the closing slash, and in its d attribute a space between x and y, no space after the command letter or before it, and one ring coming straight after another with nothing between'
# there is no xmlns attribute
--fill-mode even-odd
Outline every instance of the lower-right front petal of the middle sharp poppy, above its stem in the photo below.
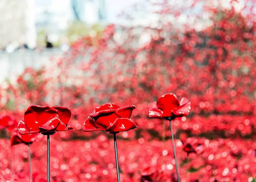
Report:
<svg viewBox="0 0 256 182"><path fill-rule="evenodd" d="M134 128L137 126L131 119L116 118L116 121L106 129L106 132L125 132Z"/></svg>

